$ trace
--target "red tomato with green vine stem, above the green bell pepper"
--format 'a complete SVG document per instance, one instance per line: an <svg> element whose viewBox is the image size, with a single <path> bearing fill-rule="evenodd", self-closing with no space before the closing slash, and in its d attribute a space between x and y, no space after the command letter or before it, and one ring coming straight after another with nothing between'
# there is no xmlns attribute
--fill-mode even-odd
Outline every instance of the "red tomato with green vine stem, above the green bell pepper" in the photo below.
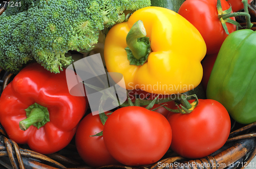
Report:
<svg viewBox="0 0 256 169"><path fill-rule="evenodd" d="M221 0L223 11L230 5ZM178 13L192 23L202 35L206 47L206 54L218 53L227 34L218 18L217 0L186 0ZM231 17L230 19L234 19ZM236 31L236 26L226 23L229 34Z"/></svg>

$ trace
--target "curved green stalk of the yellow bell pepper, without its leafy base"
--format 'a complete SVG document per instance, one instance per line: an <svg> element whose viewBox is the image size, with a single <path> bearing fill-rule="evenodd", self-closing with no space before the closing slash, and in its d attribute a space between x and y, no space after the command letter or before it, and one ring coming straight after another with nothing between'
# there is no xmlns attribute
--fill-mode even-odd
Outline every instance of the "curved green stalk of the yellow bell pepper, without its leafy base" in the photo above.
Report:
<svg viewBox="0 0 256 169"><path fill-rule="evenodd" d="M138 38L146 36L146 30L141 20L138 20L132 26L131 30L126 36L126 44L132 51L134 58L138 61L146 57L148 54L148 45L143 41L138 41Z"/></svg>

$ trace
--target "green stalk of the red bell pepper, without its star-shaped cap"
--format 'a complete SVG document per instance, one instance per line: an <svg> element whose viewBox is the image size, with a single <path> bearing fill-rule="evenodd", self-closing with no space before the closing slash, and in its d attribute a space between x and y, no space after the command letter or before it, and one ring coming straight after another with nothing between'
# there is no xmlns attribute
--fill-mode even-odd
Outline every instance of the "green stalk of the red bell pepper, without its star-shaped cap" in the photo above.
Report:
<svg viewBox="0 0 256 169"><path fill-rule="evenodd" d="M19 128L23 131L27 130L31 125L43 121L45 112L41 108L33 108L27 119L19 122Z"/></svg>

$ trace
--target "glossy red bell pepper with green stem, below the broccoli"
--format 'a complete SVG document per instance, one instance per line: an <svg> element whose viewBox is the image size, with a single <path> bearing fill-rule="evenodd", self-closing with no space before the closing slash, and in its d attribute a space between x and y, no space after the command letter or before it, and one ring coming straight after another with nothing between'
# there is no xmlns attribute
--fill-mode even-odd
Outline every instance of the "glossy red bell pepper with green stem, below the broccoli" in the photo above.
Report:
<svg viewBox="0 0 256 169"><path fill-rule="evenodd" d="M30 64L7 85L0 98L0 122L10 139L41 154L70 143L88 102L70 95L66 73L72 72L55 74Z"/></svg>

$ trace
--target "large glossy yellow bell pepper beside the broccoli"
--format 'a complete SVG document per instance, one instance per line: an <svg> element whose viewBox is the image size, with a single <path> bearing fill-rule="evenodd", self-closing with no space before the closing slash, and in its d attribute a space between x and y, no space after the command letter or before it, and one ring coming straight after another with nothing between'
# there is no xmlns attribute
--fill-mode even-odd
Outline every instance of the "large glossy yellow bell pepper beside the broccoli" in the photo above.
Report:
<svg viewBox="0 0 256 169"><path fill-rule="evenodd" d="M139 20L142 22L137 22ZM141 29L149 38L151 52L143 62L143 58L135 57L139 64L132 65L126 47L132 50L145 46L141 41L137 43L136 33L135 39L127 36L135 23L138 23L137 30ZM206 45L198 30L176 12L161 7L146 7L134 12L127 22L110 29L104 44L106 68L108 72L123 75L123 88L155 94L184 93L197 87L203 75L201 60L205 53Z"/></svg>

